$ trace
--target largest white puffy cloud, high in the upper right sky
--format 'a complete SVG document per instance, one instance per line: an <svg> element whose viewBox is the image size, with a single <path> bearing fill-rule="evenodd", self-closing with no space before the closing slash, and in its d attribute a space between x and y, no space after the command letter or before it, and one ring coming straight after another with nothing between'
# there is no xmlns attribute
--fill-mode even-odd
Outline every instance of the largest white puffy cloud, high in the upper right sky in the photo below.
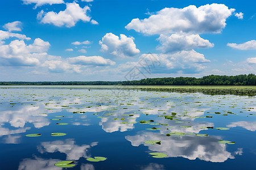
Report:
<svg viewBox="0 0 256 170"><path fill-rule="evenodd" d="M218 33L226 26L226 19L234 9L223 4L213 3L196 7L163 8L146 19L133 19L126 29L134 29L146 35L159 35L177 32Z"/></svg>

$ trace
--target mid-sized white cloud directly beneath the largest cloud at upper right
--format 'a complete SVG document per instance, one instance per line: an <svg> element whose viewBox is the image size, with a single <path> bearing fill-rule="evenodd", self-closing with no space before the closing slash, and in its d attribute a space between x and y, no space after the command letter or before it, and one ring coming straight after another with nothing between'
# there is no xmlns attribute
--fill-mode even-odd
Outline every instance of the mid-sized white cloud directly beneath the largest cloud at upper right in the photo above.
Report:
<svg viewBox="0 0 256 170"><path fill-rule="evenodd" d="M192 50L194 48L211 48L214 44L202 39L199 35L172 34L171 36L160 35L158 38L162 46L157 49L163 53Z"/></svg>

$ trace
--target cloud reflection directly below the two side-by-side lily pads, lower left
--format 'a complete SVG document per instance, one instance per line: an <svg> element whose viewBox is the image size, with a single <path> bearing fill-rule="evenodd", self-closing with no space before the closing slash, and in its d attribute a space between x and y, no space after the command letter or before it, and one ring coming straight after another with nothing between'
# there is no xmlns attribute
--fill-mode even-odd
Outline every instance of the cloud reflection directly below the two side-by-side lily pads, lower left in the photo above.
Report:
<svg viewBox="0 0 256 170"><path fill-rule="evenodd" d="M74 139L66 139L65 141L42 142L38 146L38 151L41 154L46 152L61 152L67 155L67 160L79 160L81 157L88 158L88 149L96 146L98 142L93 142L90 145L75 145Z"/></svg>

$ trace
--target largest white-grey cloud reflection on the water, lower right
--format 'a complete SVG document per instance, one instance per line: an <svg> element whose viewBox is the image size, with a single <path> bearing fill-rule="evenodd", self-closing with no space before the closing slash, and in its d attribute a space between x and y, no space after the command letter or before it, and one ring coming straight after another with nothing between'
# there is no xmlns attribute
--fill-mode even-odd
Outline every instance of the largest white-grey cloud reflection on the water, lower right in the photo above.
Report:
<svg viewBox="0 0 256 170"><path fill-rule="evenodd" d="M234 156L226 151L226 145L218 143L220 140L218 137L197 137L195 135L166 137L152 132L141 132L135 136L127 136L126 139L133 146L145 145L151 151L162 152L168 157L181 156L190 160L199 158L209 162L225 162L228 158L234 159ZM159 140L161 145L144 143L150 140Z"/></svg>

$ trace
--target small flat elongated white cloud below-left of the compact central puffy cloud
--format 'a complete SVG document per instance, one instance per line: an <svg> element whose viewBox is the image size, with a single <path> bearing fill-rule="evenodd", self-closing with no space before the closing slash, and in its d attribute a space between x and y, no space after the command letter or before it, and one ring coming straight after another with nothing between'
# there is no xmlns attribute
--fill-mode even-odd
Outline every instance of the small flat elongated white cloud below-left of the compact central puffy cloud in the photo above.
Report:
<svg viewBox="0 0 256 170"><path fill-rule="evenodd" d="M78 56L68 58L68 61L75 65L97 65L97 66L107 66L107 65L115 65L115 62L110 59L105 59L101 56Z"/></svg>

